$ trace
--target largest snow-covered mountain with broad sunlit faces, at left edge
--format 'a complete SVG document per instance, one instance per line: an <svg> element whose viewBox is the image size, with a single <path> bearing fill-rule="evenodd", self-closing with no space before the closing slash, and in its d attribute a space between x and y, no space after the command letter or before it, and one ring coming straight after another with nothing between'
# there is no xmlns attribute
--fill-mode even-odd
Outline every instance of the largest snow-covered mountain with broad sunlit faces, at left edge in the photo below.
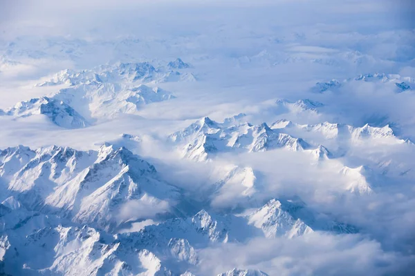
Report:
<svg viewBox="0 0 415 276"><path fill-rule="evenodd" d="M169 213L180 190L159 179L154 166L126 148L97 151L52 146L1 151L1 177L10 195L29 210L67 217L79 224L114 229L129 220ZM153 214L131 208L153 206Z"/></svg>

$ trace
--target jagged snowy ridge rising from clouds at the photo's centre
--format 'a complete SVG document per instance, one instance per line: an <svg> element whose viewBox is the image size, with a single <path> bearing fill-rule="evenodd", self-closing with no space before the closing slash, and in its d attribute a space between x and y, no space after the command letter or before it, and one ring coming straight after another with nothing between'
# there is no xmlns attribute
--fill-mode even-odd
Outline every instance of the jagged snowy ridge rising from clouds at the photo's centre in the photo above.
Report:
<svg viewBox="0 0 415 276"><path fill-rule="evenodd" d="M275 148L300 151L311 148L301 138L271 129L266 123L230 125L212 121L204 117L169 136L178 147L181 155L188 159L203 161L221 152L261 152Z"/></svg>

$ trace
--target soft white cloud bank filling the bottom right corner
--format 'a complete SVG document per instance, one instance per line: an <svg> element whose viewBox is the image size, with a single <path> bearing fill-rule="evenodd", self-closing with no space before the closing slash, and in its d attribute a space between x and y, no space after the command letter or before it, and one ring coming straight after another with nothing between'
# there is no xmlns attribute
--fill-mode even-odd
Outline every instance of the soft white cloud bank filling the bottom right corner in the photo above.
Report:
<svg viewBox="0 0 415 276"><path fill-rule="evenodd" d="M201 250L201 273L234 267L260 269L269 275L409 275L414 257L382 250L360 235L312 233L287 239L254 239ZM212 271L213 270L213 271Z"/></svg>

